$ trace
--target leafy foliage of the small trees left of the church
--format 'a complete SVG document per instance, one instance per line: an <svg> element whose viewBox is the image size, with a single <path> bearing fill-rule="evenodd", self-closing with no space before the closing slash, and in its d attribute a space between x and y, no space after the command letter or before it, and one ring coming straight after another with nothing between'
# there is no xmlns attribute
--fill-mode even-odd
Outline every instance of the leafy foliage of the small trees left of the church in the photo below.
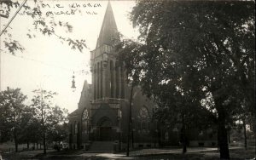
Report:
<svg viewBox="0 0 256 160"><path fill-rule="evenodd" d="M0 92L0 142L14 139L16 151L18 144L41 142L46 134L50 142L67 138L67 110L53 106L56 93L41 89L34 93L32 106L26 106L20 89Z"/></svg>

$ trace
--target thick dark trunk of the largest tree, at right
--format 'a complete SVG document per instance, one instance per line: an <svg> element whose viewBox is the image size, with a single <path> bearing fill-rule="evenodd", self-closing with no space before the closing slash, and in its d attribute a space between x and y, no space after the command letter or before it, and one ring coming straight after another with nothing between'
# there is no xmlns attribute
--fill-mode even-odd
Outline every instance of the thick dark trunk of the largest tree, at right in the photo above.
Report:
<svg viewBox="0 0 256 160"><path fill-rule="evenodd" d="M224 122L218 123L218 146L220 159L230 159L228 134Z"/></svg>

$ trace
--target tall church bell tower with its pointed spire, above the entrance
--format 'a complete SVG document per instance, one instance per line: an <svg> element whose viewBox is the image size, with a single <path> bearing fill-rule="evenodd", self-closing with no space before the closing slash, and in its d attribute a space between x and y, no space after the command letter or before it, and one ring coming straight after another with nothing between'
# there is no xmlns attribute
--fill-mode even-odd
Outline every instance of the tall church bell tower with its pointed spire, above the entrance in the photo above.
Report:
<svg viewBox="0 0 256 160"><path fill-rule="evenodd" d="M108 1L96 49L90 52L92 92L94 102L125 98L125 71L119 66L113 45L119 42L119 32Z"/></svg>

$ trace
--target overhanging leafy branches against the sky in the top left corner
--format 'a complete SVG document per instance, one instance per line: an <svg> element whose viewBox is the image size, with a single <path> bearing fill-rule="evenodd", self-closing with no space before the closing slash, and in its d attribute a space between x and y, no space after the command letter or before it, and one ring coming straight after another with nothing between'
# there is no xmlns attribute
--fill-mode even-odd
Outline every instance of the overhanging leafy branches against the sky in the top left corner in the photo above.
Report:
<svg viewBox="0 0 256 160"><path fill-rule="evenodd" d="M5 14L0 14L0 16L6 19L10 19L9 14L11 13L11 11L19 8L21 4L19 2L6 0L6 1L1 1L0 5L6 6ZM24 9L24 12L22 14L28 15L33 20L32 25L34 26L34 29L33 29L34 31L39 31L43 35L58 37L61 40L61 43L67 43L67 45L71 46L72 49L79 49L80 52L82 52L84 48L87 48L84 39L72 39L70 37L63 37L58 35L57 32L55 31L56 28L62 27L64 29L66 28L67 32L73 32L73 26L71 26L67 22L55 21L53 16L50 16L47 14L44 15L43 14L44 9L42 8L42 6L44 6L43 1L37 1L37 0L34 1L33 7L29 6L27 3L25 3L22 6L22 9ZM8 28L8 30L9 29L11 28ZM27 37L29 38L35 37L35 34L33 34L33 36L30 34L31 31L32 30L29 29L29 33L26 34ZM11 35L11 31L4 31L3 35L1 36L1 37L4 36L3 43L5 47L9 50L9 52L11 54L15 54L17 53L17 51L21 51L21 52L24 51L25 47L21 46L18 41L14 39L7 40L7 37L9 37L9 35Z"/></svg>

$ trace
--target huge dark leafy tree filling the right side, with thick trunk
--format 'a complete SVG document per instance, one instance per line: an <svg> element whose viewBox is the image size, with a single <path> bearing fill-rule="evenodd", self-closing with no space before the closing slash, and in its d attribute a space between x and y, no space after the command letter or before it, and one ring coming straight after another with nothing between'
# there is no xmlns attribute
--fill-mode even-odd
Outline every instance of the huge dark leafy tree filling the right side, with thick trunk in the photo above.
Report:
<svg viewBox="0 0 256 160"><path fill-rule="evenodd" d="M118 47L128 75L140 73L145 94L165 102L170 97L163 95L181 89L190 102L210 100L200 105L201 116L207 113L218 126L220 158L230 158L227 127L241 113L237 98L248 100L255 115L254 18L254 2L139 1L131 20L140 42Z"/></svg>

